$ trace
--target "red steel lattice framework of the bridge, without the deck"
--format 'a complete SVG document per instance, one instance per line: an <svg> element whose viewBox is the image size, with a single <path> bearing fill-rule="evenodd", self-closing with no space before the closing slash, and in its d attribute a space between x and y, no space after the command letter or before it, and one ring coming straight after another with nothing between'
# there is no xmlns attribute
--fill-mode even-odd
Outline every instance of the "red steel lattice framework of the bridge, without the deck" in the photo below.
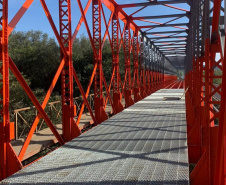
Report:
<svg viewBox="0 0 226 185"><path fill-rule="evenodd" d="M121 0L88 0L84 6L81 0L77 0L76 6L81 17L76 29L72 30L75 18L71 13L71 0L56 2L59 6L59 29L45 0L40 0L61 53L60 65L42 103L37 100L8 53L9 35L33 0L26 0L12 20L8 20L8 1L10 0L0 0L0 180L23 168L23 156L41 118L60 145L64 145L81 134L78 125L85 106L96 126L109 118L106 113L108 102L112 113L117 114L161 88L169 85L182 86L177 76L180 71L184 71L189 162L196 164L190 175L191 184L226 184L226 54L225 18L222 16L225 13L224 1L137 0L136 3L123 4ZM141 16L142 11L159 6L174 10L175 13L154 15L150 11L149 15L145 13L145 16ZM188 8L184 9L183 6ZM89 7L92 18L87 15ZM130 9L134 11L131 13L128 11ZM106 19L106 11L110 12L109 20ZM86 90L79 81L72 59L72 47L82 24L85 25L93 49L93 72ZM110 82L106 81L102 64L102 50L106 40L109 41L112 51ZM123 79L119 66L121 50L124 54ZM221 75L215 74L216 69ZM38 112L19 155L10 143L14 139L14 123L10 122L9 115L9 70ZM45 111L60 78L62 135ZM216 79L220 79L221 84L215 84ZM76 82L83 98L80 107L74 105L73 82ZM87 98L92 85L94 110ZM216 98L216 94L220 98Z"/></svg>

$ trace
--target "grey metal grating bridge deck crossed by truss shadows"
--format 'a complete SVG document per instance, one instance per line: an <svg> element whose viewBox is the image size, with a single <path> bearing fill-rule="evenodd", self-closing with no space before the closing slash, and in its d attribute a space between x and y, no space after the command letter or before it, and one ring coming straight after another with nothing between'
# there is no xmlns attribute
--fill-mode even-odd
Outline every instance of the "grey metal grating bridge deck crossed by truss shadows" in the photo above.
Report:
<svg viewBox="0 0 226 185"><path fill-rule="evenodd" d="M162 101L183 92L159 90L3 183L189 184L184 98Z"/></svg>

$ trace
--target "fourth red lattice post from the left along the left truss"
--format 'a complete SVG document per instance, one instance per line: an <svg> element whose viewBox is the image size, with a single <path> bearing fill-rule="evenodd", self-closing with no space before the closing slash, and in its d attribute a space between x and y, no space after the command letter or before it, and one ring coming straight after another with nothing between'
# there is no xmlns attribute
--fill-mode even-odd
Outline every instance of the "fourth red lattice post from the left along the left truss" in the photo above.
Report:
<svg viewBox="0 0 226 185"><path fill-rule="evenodd" d="M119 71L119 20L118 12L112 16L112 62L113 62L113 106L116 113L121 112L124 108L121 103L122 94L120 92L120 71Z"/></svg>

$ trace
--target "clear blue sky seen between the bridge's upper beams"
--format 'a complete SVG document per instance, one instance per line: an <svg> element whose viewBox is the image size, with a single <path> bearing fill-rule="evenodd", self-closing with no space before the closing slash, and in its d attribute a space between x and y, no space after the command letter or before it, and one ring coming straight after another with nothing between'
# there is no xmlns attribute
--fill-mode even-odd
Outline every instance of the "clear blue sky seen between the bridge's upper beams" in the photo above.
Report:
<svg viewBox="0 0 226 185"><path fill-rule="evenodd" d="M9 0L9 20L12 19L12 17L16 14L16 12L19 10L19 8L22 6L22 4L25 2L25 0ZM81 0L83 7L85 6L85 4L87 3L87 0ZM136 2L145 2L145 0L143 1L139 1L139 0L117 0L116 1L118 4L127 4L127 3L136 3ZM46 3L49 7L49 10L52 14L52 17L55 21L56 27L59 28L59 18L58 18L58 0L57 1L53 1L53 0L46 0ZM80 14L80 10L78 8L77 5L77 1L76 0L71 0L72 3L72 28L73 30L75 29L78 20L81 16ZM177 7L180 8L184 8L184 9L188 9L189 10L189 6L186 4L180 4L180 5L176 5ZM140 7L139 7L140 8ZM126 8L124 9L126 11L127 14L131 14L134 11L136 11L139 8ZM110 16L110 11L104 7L105 10L105 16L106 19L108 20L109 16ZM135 14L134 16L147 16L147 15L165 15L165 14L179 14L179 13L184 13L183 11L180 10L175 10L169 7L164 7L164 6L149 6L147 8L145 8L143 11ZM89 11L87 13L87 20L88 23L91 27L91 7L89 8ZM152 20L152 21L156 21L156 22L166 22L170 19L161 19L161 20ZM150 23L145 23L145 22L141 22L141 21L135 21L138 25L150 25ZM188 22L187 18L181 18L179 20L176 20L172 23L181 23L181 22ZM102 30L103 32L105 31L105 25L104 22L102 22ZM48 33L50 35L50 37L54 37L53 31L48 23L48 20L45 16L45 13L42 9L41 3L39 0L34 0L33 4L31 5L31 7L29 8L29 10L26 12L26 14L24 15L24 17L21 19L21 21L19 22L19 24L16 27L16 31L28 31L28 30L41 30L45 33ZM175 28L167 28L168 30L175 30ZM156 28L153 31L162 31L164 30L163 28ZM86 29L84 24L82 25L78 36L80 36L81 34L87 35Z"/></svg>

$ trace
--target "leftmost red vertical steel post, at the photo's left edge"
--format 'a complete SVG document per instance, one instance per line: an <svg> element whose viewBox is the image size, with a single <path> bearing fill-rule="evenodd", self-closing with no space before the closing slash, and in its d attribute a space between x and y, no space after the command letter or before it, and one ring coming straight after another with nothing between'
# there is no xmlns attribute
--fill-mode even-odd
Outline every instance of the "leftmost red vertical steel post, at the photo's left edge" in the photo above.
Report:
<svg viewBox="0 0 226 185"><path fill-rule="evenodd" d="M8 55L8 0L2 5L0 31L0 181L21 169L22 165L15 154L10 141L14 139L14 124L9 117L9 55ZM13 128L11 130L11 128Z"/></svg>

